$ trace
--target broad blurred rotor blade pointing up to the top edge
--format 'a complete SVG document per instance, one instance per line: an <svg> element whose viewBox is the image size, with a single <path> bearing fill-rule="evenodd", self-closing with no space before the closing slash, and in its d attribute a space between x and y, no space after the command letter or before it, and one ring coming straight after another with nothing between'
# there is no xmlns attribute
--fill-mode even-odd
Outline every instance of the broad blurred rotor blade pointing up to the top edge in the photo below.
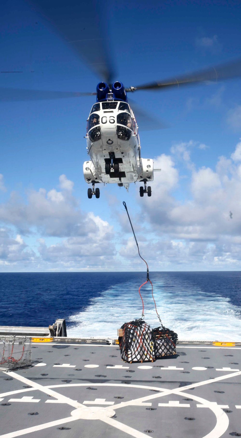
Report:
<svg viewBox="0 0 241 438"><path fill-rule="evenodd" d="M57 29L87 66L109 84L115 75L108 47L110 5L98 0L29 0Z"/></svg>

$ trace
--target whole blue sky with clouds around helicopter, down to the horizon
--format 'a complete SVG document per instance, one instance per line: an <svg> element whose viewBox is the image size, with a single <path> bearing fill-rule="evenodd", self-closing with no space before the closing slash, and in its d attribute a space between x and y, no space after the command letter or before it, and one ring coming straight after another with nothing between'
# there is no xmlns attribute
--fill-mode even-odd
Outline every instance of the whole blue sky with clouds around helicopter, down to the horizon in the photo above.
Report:
<svg viewBox="0 0 241 438"><path fill-rule="evenodd" d="M115 79L125 86L240 57L240 2L102 4ZM0 70L23 72L1 73L1 88L95 91L101 78L30 3L3 1L0 25ZM240 85L131 95L167 125L140 131L141 155L162 168L151 198L139 197L139 184L129 193L101 186L100 199L87 198L93 97L0 102L0 270L143 270L122 201L150 269L239 270Z"/></svg>

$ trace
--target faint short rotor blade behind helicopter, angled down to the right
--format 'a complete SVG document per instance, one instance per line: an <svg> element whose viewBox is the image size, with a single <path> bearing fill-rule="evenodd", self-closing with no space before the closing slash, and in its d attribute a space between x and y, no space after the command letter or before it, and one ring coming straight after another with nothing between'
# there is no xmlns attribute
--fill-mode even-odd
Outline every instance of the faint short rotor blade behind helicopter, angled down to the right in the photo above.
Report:
<svg viewBox="0 0 241 438"><path fill-rule="evenodd" d="M164 122L158 120L145 111L145 109L141 108L138 103L134 102L134 100L128 99L128 102L131 105L131 109L133 109L139 131L155 131L157 129L165 129L168 127Z"/></svg>

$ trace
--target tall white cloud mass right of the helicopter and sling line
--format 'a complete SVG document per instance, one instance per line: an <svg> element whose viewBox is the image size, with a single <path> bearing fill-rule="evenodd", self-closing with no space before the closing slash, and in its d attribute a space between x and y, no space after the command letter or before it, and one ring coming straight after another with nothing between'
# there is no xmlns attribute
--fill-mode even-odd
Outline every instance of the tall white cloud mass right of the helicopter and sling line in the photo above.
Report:
<svg viewBox="0 0 241 438"><path fill-rule="evenodd" d="M162 171L152 183L151 198L140 200L141 217L151 230L148 242L143 242L142 254L149 254L155 268L215 269L241 268L241 143L231 159L220 157L215 170L196 169L190 155L184 155L183 143L172 148L175 160L185 163L190 170L189 191L179 199L173 192L181 179L172 156L162 156ZM169 166L168 166L169 164ZM159 166L158 166L159 167ZM166 176L172 170L173 184L166 185ZM163 189L163 186L166 188ZM175 196L174 194L175 193ZM182 193L183 198L183 193ZM232 219L230 218L232 212ZM159 248L159 249L158 249ZM121 253L131 254L130 243ZM130 257L132 257L130 255ZM185 269L185 267L182 267Z"/></svg>

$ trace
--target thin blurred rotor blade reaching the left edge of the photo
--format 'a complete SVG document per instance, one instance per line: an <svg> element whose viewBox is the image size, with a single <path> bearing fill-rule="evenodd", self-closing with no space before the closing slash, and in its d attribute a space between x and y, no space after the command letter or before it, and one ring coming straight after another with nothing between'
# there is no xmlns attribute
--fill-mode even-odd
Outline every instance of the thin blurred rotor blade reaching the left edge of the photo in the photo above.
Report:
<svg viewBox="0 0 241 438"><path fill-rule="evenodd" d="M66 99L69 97L94 96L96 93L78 93L68 91L22 90L20 88L0 88L0 102L24 100Z"/></svg>

